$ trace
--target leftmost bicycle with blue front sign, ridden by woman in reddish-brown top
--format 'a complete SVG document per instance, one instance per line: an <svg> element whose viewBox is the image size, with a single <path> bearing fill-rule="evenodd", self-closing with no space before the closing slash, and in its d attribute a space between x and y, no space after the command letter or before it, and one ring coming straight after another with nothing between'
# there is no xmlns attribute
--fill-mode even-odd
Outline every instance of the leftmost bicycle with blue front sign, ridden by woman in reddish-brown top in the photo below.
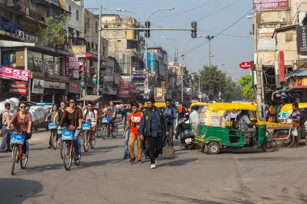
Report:
<svg viewBox="0 0 307 204"><path fill-rule="evenodd" d="M15 129L8 130L10 133L16 132L17 134L11 135L11 144L14 144L12 151L12 169L11 175L14 174L15 163L20 162L21 169L25 169L29 158L29 142L26 140L26 136L23 135L26 131L17 131ZM23 159L23 147L22 145L26 142L27 144L27 157Z"/></svg>

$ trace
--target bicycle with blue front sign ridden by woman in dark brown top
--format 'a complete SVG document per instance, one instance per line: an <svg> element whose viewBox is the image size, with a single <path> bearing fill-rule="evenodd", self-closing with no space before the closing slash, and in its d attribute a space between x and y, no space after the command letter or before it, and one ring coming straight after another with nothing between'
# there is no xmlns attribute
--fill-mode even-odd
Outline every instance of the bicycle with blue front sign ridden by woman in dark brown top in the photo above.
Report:
<svg viewBox="0 0 307 204"><path fill-rule="evenodd" d="M64 157L63 157L63 165L65 170L70 170L70 167L72 165L72 160L75 158L75 147L74 147L74 135L75 131L68 131L64 130L62 131L62 140L66 142L64 146ZM81 144L80 140L78 139L79 143L79 160L75 160L75 164L78 166L80 164L81 160Z"/></svg>

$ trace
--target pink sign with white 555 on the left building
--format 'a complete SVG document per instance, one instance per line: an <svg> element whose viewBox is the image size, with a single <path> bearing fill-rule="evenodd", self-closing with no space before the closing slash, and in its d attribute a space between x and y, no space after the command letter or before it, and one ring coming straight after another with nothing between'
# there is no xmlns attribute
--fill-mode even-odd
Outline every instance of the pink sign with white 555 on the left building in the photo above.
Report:
<svg viewBox="0 0 307 204"><path fill-rule="evenodd" d="M0 77L28 82L30 78L30 71L10 67L0 67Z"/></svg>

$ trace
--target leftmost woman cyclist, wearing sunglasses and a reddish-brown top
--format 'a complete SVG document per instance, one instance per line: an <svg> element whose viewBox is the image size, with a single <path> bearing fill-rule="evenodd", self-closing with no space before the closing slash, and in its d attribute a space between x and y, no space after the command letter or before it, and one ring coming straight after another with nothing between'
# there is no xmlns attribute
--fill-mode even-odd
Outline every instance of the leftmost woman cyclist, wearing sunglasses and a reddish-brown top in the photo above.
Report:
<svg viewBox="0 0 307 204"><path fill-rule="evenodd" d="M31 134L32 114L26 112L26 107L27 105L24 102L19 103L18 109L20 111L18 111L12 116L6 129L10 130L10 126L13 123L15 129L18 132L23 132L23 134L25 134L26 136L26 140L29 140L32 136ZM21 147L23 148L23 159L26 159L27 143L25 142Z"/></svg>

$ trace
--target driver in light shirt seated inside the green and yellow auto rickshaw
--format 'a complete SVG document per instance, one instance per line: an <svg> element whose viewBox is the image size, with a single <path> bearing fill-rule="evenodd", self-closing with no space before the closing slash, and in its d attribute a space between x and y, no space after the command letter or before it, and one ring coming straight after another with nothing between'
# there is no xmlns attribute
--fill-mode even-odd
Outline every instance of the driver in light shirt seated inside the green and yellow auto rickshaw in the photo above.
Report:
<svg viewBox="0 0 307 204"><path fill-rule="evenodd" d="M250 126L258 126L257 123L252 122L249 118L249 111L247 110L239 110L240 114L237 115L236 121L238 121L239 130L242 133L250 133L252 135L251 145L257 144L257 129Z"/></svg>

